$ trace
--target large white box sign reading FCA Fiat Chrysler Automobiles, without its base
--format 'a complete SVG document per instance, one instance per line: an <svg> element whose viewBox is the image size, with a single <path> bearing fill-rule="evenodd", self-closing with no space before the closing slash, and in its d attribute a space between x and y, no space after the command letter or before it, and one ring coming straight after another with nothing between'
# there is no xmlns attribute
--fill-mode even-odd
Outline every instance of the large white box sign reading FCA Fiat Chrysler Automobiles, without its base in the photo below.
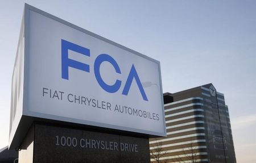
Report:
<svg viewBox="0 0 256 163"><path fill-rule="evenodd" d="M159 61L29 5L20 33L10 141L22 116L166 136Z"/></svg>

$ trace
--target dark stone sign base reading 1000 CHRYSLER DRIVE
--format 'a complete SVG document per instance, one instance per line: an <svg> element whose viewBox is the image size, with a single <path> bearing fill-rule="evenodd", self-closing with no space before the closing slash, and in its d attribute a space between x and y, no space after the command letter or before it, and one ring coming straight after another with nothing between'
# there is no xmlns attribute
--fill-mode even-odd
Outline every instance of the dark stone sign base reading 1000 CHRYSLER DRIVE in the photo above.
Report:
<svg viewBox="0 0 256 163"><path fill-rule="evenodd" d="M19 151L19 163L150 162L148 139L84 129L34 124Z"/></svg>

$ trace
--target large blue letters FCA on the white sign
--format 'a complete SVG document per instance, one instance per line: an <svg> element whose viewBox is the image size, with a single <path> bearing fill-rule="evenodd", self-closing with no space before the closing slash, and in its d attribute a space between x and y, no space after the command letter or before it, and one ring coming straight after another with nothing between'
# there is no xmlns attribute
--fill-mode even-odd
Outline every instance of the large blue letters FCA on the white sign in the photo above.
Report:
<svg viewBox="0 0 256 163"><path fill-rule="evenodd" d="M61 76L62 76L62 78L64 78L65 80L68 80L68 68L69 67L79 69L79 70L89 73L90 66L87 64L84 64L82 62L75 61L75 60L68 58L68 50L75 51L77 53L81 53L82 55L90 57L89 49L61 39ZM102 87L102 89L104 89L108 93L115 93L121 87L122 81L115 80L115 83L113 85L108 85L104 82L104 80L101 77L100 66L101 66L102 62L105 62L105 61L112 64L112 66L115 69L115 73L121 74L121 70L120 70L117 62L114 60L114 58L107 54L101 54L101 55L97 56L96 60L94 61L94 75L96 77L98 84ZM122 94L128 95L130 87L131 87L131 83L133 82L133 79L135 79L144 101L148 101L146 93L143 89L141 80L139 80L139 76L138 76L138 73L137 73L134 65L131 66L131 70L130 70L129 76L127 77L125 87L123 88Z"/></svg>

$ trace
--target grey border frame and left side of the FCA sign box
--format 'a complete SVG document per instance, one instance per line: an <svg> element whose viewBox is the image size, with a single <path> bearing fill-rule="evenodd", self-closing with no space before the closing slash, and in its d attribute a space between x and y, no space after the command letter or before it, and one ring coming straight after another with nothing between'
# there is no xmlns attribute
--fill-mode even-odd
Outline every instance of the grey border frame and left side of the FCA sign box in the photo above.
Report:
<svg viewBox="0 0 256 163"><path fill-rule="evenodd" d="M64 24L65 26L71 27L77 31L83 32L84 34L87 34L89 36L92 36L96 39L99 39L101 41L104 41L106 43L112 44L115 47L121 48L125 51L128 51L130 53L133 53L137 56L143 57L147 60L150 60L152 62L155 62L156 64L158 64L158 72L159 72L159 83L160 83L160 94L163 92L162 90L162 77L161 77L161 71L160 71L160 62L157 60L154 60L153 58L150 58L148 56L142 55L139 52L136 52L132 49L129 49L127 47L124 47L123 45L120 45L118 43L115 43L114 41L111 41L109 39L106 39L105 37L99 36L97 34L94 34L90 31L85 30L84 28L78 27L72 23L69 23L63 19L57 18L56 16L53 16L51 14L48 14L47 12L44 12L42 10L39 10L33 6L27 5L25 3L25 7L24 7L24 14L23 14L23 20L22 20L22 28L20 30L20 38L19 38L19 44L22 44L23 48L24 48L24 52L23 52L23 60L21 60L20 65L22 67L22 65L24 66L24 70L21 70L21 74L17 74L17 72L15 73L15 69L14 69L14 74L13 74L13 78L15 78L15 76L19 76L19 80L18 83L23 87L20 87L20 92L18 92L18 94L20 95L20 97L22 97L22 99L20 99L20 106L17 106L17 108L15 108L15 111L13 108L11 108L11 117L13 116L13 114L16 114L16 116L12 119L10 119L10 139L9 139L9 148L10 149L14 149L17 147L20 147L20 143L22 142L22 139L24 137L24 135L26 135L26 132L28 130L28 128L31 126L32 122L34 121L45 121L47 120L48 122L67 122L67 123L72 123L72 124L82 124L85 126L94 126L94 127L103 127L103 128L110 128L110 129L114 129L117 130L119 132L133 132L135 134L138 135L147 135L148 137L159 137L159 136L167 136L166 133L166 122L165 122L165 114L164 114L164 103L163 103L163 95L161 96L161 100L162 100L162 114L163 117L161 117L161 119L163 119L163 127L164 127L164 131L159 133L159 132L152 132L152 131L143 131L142 129L136 129L136 128L128 128L128 127L123 127L123 126L114 126L112 124L106 124L106 123L97 123L97 122L91 122L88 120L79 120L79 119L74 119L74 118L67 118L67 117L63 117L63 116L56 116L56 115L50 115L50 114L43 114L43 113L39 113L39 112L33 112L33 111L29 111L26 107L28 106L28 97L26 96L27 94L27 89L29 87L29 82L28 82L28 64L26 64L28 58L27 58L27 53L29 53L29 49L30 49L30 43L28 40L28 37L30 35L30 29L29 26L27 26L27 24L30 23L30 11L34 11L40 15L46 16L49 19L52 19L56 22L59 22L61 24ZM23 41L22 41L23 39ZM18 45L19 47L19 45ZM19 62L19 54L20 51L17 50L16 53L16 60L15 60L15 66L17 64L17 62ZM22 57L22 56L21 56ZM19 65L19 63L18 63ZM20 66L19 66L20 67ZM15 67L14 67L15 68ZM14 80L14 79L13 79ZM13 81L13 85L14 85L14 81ZM13 88L14 89L14 88ZM17 91L17 90L13 90L13 91ZM12 103L15 103L15 98L13 99L13 95L12 95ZM14 107L14 106L11 106ZM160 108L159 108L160 109Z"/></svg>

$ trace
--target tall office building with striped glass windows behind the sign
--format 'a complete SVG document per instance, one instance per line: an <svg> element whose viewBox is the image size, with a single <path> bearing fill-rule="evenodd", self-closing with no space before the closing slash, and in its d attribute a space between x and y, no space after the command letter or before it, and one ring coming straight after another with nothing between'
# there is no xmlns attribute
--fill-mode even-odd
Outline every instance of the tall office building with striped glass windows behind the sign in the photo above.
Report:
<svg viewBox="0 0 256 163"><path fill-rule="evenodd" d="M150 139L151 162L236 162L228 106L212 83L164 93L167 137Z"/></svg>

